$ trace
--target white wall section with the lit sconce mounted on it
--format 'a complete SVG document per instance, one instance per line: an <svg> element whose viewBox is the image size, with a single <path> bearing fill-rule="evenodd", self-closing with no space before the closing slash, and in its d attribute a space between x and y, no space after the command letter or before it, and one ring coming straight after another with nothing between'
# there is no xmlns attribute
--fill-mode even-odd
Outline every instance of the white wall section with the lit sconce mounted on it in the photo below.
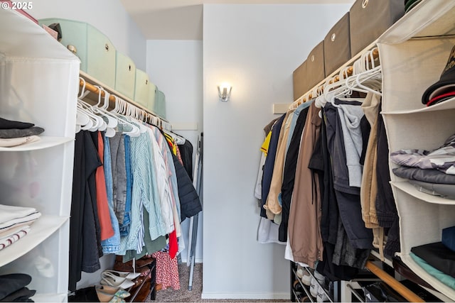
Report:
<svg viewBox="0 0 455 303"><path fill-rule="evenodd" d="M262 128L272 104L293 101L292 72L349 8L204 5L203 298L289 298L284 246L256 241ZM228 102L218 101L224 81Z"/></svg>

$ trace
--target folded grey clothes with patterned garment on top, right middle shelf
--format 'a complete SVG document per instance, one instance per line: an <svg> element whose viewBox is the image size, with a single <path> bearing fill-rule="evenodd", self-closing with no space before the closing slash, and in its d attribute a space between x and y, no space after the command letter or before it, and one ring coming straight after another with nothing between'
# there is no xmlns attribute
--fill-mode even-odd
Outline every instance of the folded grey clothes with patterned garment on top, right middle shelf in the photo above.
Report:
<svg viewBox="0 0 455 303"><path fill-rule="evenodd" d="M421 192L455 199L455 135L435 150L397 150L390 160L402 165L392 172Z"/></svg>

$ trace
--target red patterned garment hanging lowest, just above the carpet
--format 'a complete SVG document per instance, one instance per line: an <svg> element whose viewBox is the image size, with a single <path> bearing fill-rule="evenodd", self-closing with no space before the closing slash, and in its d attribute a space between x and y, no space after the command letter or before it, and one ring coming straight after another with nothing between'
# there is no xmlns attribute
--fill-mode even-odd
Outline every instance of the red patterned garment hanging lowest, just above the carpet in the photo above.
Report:
<svg viewBox="0 0 455 303"><path fill-rule="evenodd" d="M171 258L166 251L157 251L152 257L156 259L156 284L161 284L163 289L180 290L177 258Z"/></svg>

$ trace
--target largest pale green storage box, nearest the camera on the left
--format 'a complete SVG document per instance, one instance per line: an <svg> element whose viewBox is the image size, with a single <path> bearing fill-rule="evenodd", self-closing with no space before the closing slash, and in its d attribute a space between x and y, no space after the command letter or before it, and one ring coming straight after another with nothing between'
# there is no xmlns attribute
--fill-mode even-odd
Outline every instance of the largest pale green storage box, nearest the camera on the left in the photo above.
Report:
<svg viewBox="0 0 455 303"><path fill-rule="evenodd" d="M107 87L114 88L116 50L106 35L90 24L80 21L45 18L38 23L45 26L60 23L62 30L60 43L79 57L80 70Z"/></svg>

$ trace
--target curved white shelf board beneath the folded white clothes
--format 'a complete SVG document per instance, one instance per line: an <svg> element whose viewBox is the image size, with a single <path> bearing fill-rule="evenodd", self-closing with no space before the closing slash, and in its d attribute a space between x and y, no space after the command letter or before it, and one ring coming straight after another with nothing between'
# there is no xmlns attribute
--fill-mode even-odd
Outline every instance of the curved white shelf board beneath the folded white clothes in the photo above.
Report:
<svg viewBox="0 0 455 303"><path fill-rule="evenodd" d="M26 236L0 250L0 267L20 258L41 244L69 219L69 216L42 215L31 224L31 230Z"/></svg>

